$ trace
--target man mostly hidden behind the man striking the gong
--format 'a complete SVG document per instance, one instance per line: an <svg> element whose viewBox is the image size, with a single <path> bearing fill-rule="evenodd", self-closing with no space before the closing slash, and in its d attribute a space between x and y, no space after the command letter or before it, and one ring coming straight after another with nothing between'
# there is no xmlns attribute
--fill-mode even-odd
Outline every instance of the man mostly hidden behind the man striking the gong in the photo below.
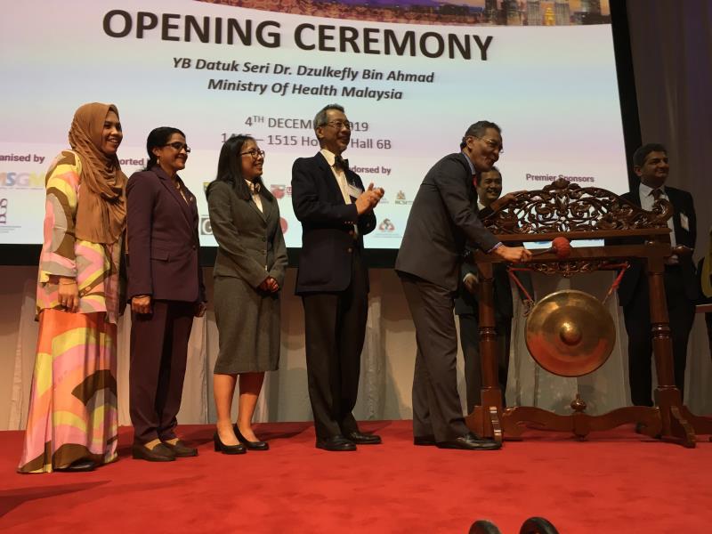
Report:
<svg viewBox="0 0 712 534"><path fill-rule="evenodd" d="M480 174L475 187L479 217L484 219L496 209L496 202L502 194L502 174L496 166ZM513 193L510 193L513 195ZM502 200L506 200L506 195ZM503 202L504 204L504 202ZM494 276L495 331L498 349L498 383L502 391L502 405L506 405L506 377L509 371L509 347L512 338L512 285L504 263L492 265ZM529 292L534 294L531 277L527 272L519 272L518 279ZM480 360L480 310L479 272L473 263L460 266L460 286L455 299L455 313L460 323L460 346L465 360L465 391L467 393L467 413L472 413L481 402L482 373ZM522 301L526 295L520 290Z"/></svg>

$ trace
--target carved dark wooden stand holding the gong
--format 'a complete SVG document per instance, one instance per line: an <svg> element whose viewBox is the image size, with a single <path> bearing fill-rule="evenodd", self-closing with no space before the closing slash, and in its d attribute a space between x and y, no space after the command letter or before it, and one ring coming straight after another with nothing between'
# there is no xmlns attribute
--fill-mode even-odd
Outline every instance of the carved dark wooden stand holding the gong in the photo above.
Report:
<svg viewBox="0 0 712 534"><path fill-rule="evenodd" d="M624 198L595 187L582 188L559 179L543 190L521 193L508 205L490 214L483 223L503 243L567 239L609 239L639 244L575 247L570 256L559 260L554 252L536 256L527 265L534 271L569 277L576 273L611 269L630 258L641 258L646 264L650 287L651 336L658 387L657 406L628 406L600 416L585 413L586 402L571 402L568 416L535 407L502 408L502 395L497 379L497 341L495 337L494 289L492 263L498 258L477 252L473 261L480 270L480 354L482 371L481 406L465 417L474 433L502 441L521 439L525 425L538 429L574 433L584 439L592 431L609 430L629 423L641 424L642 432L676 441L684 447L695 447L695 434L712 433L712 418L699 417L683 405L676 388L672 343L663 273L665 260L671 255L667 219L673 208L665 199L658 200L652 211L645 211ZM642 239L641 239L642 238Z"/></svg>

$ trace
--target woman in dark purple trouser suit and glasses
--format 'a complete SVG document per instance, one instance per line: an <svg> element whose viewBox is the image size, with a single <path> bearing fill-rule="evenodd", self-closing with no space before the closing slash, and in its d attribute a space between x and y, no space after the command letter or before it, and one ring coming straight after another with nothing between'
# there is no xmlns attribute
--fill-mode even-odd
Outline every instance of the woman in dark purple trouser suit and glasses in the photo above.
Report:
<svg viewBox="0 0 712 534"><path fill-rule="evenodd" d="M198 263L198 209L178 175L190 148L177 128L156 128L146 169L126 186L128 298L131 301L129 410L134 458L197 456L174 433L181 408L193 317L206 310Z"/></svg>

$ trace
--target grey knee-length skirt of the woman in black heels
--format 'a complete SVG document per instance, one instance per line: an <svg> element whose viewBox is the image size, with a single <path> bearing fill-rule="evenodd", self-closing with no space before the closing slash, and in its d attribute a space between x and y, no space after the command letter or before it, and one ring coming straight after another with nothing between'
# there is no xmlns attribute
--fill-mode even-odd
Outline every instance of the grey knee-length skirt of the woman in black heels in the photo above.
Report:
<svg viewBox="0 0 712 534"><path fill-rule="evenodd" d="M279 368L279 292L265 294L243 279L214 279L220 352L214 373L235 375Z"/></svg>

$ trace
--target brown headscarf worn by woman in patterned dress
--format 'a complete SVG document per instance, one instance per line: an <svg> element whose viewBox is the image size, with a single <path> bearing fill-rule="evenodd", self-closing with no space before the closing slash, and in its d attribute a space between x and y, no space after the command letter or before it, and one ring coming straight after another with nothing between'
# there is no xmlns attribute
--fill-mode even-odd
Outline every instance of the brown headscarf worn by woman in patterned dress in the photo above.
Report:
<svg viewBox="0 0 712 534"><path fill-rule="evenodd" d="M116 243L126 225L126 176L116 154L101 151L104 121L113 104L85 104L74 114L69 145L82 161L77 202L77 239L93 243Z"/></svg>

